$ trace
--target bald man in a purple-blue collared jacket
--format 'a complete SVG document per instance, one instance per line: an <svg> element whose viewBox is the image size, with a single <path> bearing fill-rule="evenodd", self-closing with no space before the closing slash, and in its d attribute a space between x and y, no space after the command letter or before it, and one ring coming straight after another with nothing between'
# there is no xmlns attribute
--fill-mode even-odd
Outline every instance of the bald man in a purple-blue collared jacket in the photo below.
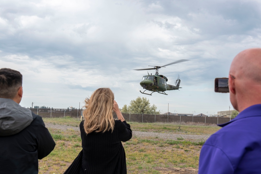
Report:
<svg viewBox="0 0 261 174"><path fill-rule="evenodd" d="M203 145L199 174L261 173L261 49L240 52L230 66L229 94L240 113Z"/></svg>

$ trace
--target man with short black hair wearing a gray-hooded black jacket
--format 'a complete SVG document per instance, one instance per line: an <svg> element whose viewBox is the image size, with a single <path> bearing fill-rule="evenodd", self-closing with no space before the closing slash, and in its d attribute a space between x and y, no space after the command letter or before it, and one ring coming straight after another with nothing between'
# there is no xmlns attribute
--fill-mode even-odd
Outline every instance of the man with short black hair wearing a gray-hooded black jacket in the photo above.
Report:
<svg viewBox="0 0 261 174"><path fill-rule="evenodd" d="M0 69L0 173L38 173L38 159L55 147L42 118L19 105L22 74Z"/></svg>

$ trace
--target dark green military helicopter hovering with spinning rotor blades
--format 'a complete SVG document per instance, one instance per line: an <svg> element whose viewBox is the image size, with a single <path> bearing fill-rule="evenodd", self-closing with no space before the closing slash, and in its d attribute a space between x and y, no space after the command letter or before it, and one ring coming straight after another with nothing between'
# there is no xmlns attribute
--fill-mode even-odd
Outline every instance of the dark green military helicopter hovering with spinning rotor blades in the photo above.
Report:
<svg viewBox="0 0 261 174"><path fill-rule="evenodd" d="M167 65L163 65L163 66L153 66L153 68L134 69L134 70L137 70L137 71L140 71L140 70L156 70L155 75L149 74L149 72L148 72L147 76L143 76L142 80L140 82L140 86L143 87L143 89L145 89L145 91L148 90L148 91L158 92L159 94L168 95L164 91L166 91L166 90L178 90L180 88L179 87L179 85L180 85L180 79L179 78L180 77L178 76L176 83L175 83L175 86L174 85L168 85L167 84L167 82L168 82L167 77L165 77L163 75L159 75L159 73L158 73L159 69L161 67L181 63L181 62L184 62L184 61L187 61L187 59L177 60L175 62L169 63ZM147 94L147 93L145 93L145 91L143 91L143 92L140 91L140 92L142 94ZM152 95L153 92L151 92L150 94L147 94L147 95Z"/></svg>

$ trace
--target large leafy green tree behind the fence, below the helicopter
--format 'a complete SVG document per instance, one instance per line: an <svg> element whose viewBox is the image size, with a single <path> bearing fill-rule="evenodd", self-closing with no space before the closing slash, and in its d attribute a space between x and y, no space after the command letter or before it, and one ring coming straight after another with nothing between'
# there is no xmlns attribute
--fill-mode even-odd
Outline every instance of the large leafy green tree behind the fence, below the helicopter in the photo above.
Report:
<svg viewBox="0 0 261 174"><path fill-rule="evenodd" d="M157 106L153 104L150 105L149 99L146 97L137 97L136 100L132 100L129 106L124 105L122 107L122 112L138 113L138 114L159 114L157 111Z"/></svg>

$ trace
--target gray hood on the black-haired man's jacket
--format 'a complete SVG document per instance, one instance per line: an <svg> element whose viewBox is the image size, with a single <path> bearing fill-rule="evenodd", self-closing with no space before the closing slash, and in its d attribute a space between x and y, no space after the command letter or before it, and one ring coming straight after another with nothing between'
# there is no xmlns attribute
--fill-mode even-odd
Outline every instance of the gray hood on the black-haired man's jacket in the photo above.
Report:
<svg viewBox="0 0 261 174"><path fill-rule="evenodd" d="M0 136L14 135L33 121L32 112L8 98L0 98Z"/></svg>

